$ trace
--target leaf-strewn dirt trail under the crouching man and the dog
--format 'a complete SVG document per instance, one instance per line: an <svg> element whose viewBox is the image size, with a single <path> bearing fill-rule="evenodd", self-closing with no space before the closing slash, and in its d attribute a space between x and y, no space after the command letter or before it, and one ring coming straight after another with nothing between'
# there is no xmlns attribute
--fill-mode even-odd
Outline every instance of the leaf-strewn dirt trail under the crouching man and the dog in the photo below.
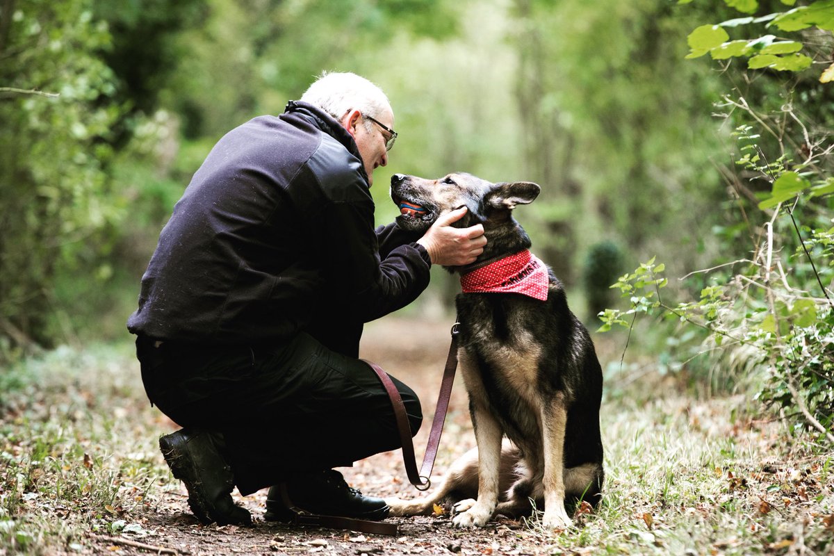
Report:
<svg viewBox="0 0 834 556"><path fill-rule="evenodd" d="M434 417L449 343L450 323L415 323L388 318L371 323L364 334L361 357L378 363L388 373L409 384L420 396L424 424L414 439L418 458L423 456ZM435 481L442 477L454 458L474 445L466 393L459 377L453 389L440 453L435 463ZM348 483L364 493L404 498L420 494L405 476L399 450L380 453L357 462L353 468L340 468L339 471L344 473ZM521 524L508 519L500 519L487 528L472 532L451 528L449 517L445 515L392 518L390 521L399 526L396 537L268 523L262 517L265 490L245 498L235 493L237 501L252 513L253 528L203 526L188 513L188 495L179 486L173 486L170 492L164 493L160 503L143 516L142 525L148 534L141 538L132 537L134 544L147 544L160 553L188 554L320 553L341 556L362 553L481 554L494 550L495 553L538 552L535 547L523 546L525 543L518 536ZM113 540L97 539L103 551L109 549L115 552L118 548L118 553L123 554L150 552L135 545L118 543L118 539L115 539L117 542Z"/></svg>

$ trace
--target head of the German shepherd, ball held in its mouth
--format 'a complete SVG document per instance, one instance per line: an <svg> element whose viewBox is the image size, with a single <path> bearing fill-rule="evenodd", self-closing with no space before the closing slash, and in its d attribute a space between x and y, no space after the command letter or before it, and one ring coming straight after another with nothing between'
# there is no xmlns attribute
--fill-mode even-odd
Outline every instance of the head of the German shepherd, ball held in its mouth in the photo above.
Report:
<svg viewBox="0 0 834 556"><path fill-rule="evenodd" d="M481 223L489 230L510 221L512 209L532 203L540 191L535 183L490 183L468 173L450 173L438 179L400 173L391 177L391 199L400 211L397 223L415 232L429 229L440 215L460 207L469 210L453 226L467 228Z"/></svg>

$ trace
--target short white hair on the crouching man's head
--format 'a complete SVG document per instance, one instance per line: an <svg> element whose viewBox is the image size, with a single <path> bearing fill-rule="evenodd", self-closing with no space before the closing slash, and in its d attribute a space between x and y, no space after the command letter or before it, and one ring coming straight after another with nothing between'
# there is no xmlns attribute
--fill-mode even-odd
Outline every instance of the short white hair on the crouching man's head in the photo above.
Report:
<svg viewBox="0 0 834 556"><path fill-rule="evenodd" d="M300 100L321 108L337 120L354 109L377 119L386 110L391 110L391 103L382 89L355 73L324 72ZM373 127L367 120L364 125L369 131Z"/></svg>

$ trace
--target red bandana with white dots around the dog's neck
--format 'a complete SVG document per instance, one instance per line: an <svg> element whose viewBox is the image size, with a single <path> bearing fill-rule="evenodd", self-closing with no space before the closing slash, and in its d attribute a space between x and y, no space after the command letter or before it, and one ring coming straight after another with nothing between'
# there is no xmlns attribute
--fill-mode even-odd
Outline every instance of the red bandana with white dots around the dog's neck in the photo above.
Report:
<svg viewBox="0 0 834 556"><path fill-rule="evenodd" d="M541 301L547 301L548 283L545 263L526 249L460 277L464 293L523 293Z"/></svg>

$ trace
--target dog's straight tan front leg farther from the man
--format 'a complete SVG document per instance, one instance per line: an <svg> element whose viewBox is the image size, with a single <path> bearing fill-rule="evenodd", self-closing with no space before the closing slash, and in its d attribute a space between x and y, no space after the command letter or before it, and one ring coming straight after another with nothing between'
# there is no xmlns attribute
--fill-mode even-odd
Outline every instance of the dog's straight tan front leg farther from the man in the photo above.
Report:
<svg viewBox="0 0 834 556"><path fill-rule="evenodd" d="M565 512L565 425L567 410L562 396L542 411L542 434L545 448L545 528L570 527L571 521Z"/></svg>

